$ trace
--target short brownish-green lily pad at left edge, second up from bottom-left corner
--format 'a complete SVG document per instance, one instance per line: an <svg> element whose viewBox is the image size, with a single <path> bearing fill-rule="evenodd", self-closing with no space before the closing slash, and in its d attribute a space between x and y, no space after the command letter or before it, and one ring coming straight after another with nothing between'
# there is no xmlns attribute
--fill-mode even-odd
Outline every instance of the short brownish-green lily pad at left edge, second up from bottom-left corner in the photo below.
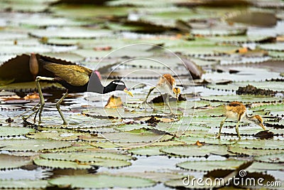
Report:
<svg viewBox="0 0 284 190"><path fill-rule="evenodd" d="M28 157L16 157L9 154L0 154L0 162L0 169L13 169L32 163Z"/></svg>

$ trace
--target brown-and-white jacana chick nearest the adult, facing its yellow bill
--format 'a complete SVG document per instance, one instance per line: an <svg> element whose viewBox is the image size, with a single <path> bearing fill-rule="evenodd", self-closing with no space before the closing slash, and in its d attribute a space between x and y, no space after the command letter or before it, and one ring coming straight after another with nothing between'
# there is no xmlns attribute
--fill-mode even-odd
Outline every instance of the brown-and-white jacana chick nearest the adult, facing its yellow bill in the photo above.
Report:
<svg viewBox="0 0 284 190"><path fill-rule="evenodd" d="M148 94L146 95L145 100L143 100L143 102L141 102L141 104L139 104L137 107L135 107L132 111L136 110L138 107L140 107L141 105L143 105L145 103L148 104L147 99L148 99L149 95L151 94L151 92L154 89L158 89L158 91L161 94L162 93L167 94L167 96L165 98L165 104L168 105L168 107L170 109L170 114L173 114L173 110L172 110L172 108L170 107L170 104L169 104L169 98L171 96L171 97L175 97L178 100L178 97L180 95L180 88L176 87L175 78L173 78L173 76L170 75L170 74L162 75L159 78L157 85L155 85L154 87L150 88ZM149 105L149 106L151 108L153 108L151 105Z"/></svg>

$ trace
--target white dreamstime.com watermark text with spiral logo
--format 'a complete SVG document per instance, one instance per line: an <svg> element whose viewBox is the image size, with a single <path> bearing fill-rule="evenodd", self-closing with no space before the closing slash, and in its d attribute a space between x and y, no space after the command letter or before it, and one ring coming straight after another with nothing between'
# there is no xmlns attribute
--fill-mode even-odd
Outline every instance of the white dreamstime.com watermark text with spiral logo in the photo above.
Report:
<svg viewBox="0 0 284 190"><path fill-rule="evenodd" d="M281 181L266 181L266 179L259 177L253 178L246 176L245 170L239 171L239 176L234 176L229 179L224 178L195 178L188 175L182 179L182 184L185 186L281 186Z"/></svg>

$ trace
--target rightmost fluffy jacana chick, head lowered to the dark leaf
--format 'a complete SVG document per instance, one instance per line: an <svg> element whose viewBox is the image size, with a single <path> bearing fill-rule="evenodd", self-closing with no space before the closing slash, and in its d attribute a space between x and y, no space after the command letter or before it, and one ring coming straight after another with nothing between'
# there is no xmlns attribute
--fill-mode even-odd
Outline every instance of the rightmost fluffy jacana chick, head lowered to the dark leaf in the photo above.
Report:
<svg viewBox="0 0 284 190"><path fill-rule="evenodd" d="M222 130L222 127L224 125L224 122L228 118L237 120L237 122L236 122L236 133L238 134L239 138L241 138L241 136L239 134L239 122L244 117L246 117L246 120L254 122L256 125L261 126L263 128L263 130L266 130L266 127L264 127L264 125L263 125L263 119L261 118L261 116L259 116L259 115L253 115L253 116L247 115L246 107L241 102L231 102L231 103L229 103L229 105L226 105L225 108L226 108L226 117L220 123L220 129L219 129L219 133L218 133L218 136L217 136L218 139L220 138L221 130Z"/></svg>

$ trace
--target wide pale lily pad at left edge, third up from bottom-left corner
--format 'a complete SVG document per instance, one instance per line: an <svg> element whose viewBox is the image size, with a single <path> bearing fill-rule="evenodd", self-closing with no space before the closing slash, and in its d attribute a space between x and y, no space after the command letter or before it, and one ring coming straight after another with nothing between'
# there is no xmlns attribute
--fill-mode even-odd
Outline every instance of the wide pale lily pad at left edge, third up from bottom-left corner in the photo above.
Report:
<svg viewBox="0 0 284 190"><path fill-rule="evenodd" d="M50 139L6 139L0 141L1 150L38 152L48 149L70 147L72 142Z"/></svg>

